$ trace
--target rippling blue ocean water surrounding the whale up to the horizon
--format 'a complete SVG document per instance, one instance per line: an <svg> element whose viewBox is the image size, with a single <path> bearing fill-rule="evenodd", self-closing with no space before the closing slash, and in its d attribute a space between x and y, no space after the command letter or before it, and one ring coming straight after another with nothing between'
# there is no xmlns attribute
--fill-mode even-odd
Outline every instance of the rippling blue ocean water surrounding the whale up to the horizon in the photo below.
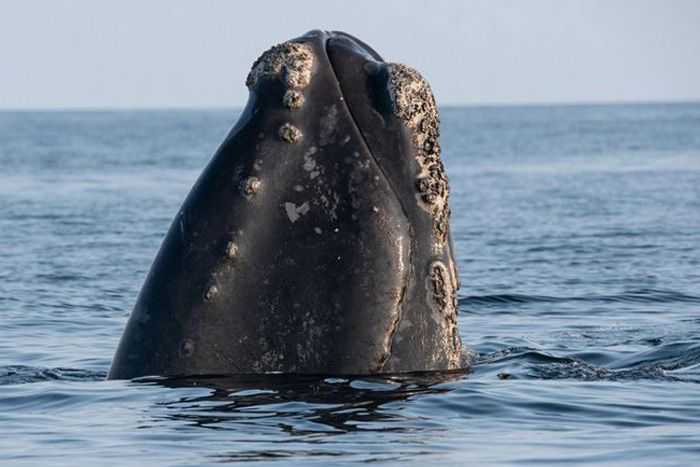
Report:
<svg viewBox="0 0 700 467"><path fill-rule="evenodd" d="M464 374L105 381L237 118L0 113L0 464L700 459L700 104L442 109Z"/></svg>

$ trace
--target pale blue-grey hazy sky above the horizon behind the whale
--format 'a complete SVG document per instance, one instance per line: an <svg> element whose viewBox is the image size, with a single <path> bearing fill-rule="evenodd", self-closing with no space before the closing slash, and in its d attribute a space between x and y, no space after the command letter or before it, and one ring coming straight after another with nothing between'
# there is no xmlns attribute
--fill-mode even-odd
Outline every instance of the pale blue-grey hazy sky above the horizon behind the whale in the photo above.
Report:
<svg viewBox="0 0 700 467"><path fill-rule="evenodd" d="M700 100L696 0L0 0L0 109L239 107L255 58L311 29L441 105Z"/></svg>

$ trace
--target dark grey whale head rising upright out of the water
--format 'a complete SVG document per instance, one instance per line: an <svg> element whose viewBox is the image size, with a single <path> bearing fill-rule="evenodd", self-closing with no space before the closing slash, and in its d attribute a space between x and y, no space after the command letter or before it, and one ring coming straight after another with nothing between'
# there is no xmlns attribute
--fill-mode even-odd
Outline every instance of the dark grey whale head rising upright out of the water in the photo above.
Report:
<svg viewBox="0 0 700 467"><path fill-rule="evenodd" d="M466 365L427 83L313 31L250 99L168 231L109 378Z"/></svg>

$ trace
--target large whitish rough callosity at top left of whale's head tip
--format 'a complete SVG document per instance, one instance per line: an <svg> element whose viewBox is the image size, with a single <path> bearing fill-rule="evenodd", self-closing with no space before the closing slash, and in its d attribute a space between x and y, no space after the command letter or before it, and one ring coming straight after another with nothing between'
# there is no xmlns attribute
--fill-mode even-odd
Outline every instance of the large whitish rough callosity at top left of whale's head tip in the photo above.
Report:
<svg viewBox="0 0 700 467"><path fill-rule="evenodd" d="M263 78L280 78L291 89L305 87L311 81L314 55L306 44L284 42L262 54L246 79L249 89Z"/></svg>

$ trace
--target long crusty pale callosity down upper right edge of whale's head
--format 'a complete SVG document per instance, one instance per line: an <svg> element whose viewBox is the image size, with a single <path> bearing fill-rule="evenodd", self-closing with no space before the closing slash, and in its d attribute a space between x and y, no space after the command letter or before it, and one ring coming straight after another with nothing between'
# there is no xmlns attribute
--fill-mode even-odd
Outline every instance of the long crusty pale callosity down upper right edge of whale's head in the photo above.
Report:
<svg viewBox="0 0 700 467"><path fill-rule="evenodd" d="M428 82L413 68L391 63L388 69L394 111L411 131L416 160L421 167L416 181L419 203L432 213L435 240L438 245L444 245L450 219L449 185L440 160L440 119L435 98Z"/></svg>

